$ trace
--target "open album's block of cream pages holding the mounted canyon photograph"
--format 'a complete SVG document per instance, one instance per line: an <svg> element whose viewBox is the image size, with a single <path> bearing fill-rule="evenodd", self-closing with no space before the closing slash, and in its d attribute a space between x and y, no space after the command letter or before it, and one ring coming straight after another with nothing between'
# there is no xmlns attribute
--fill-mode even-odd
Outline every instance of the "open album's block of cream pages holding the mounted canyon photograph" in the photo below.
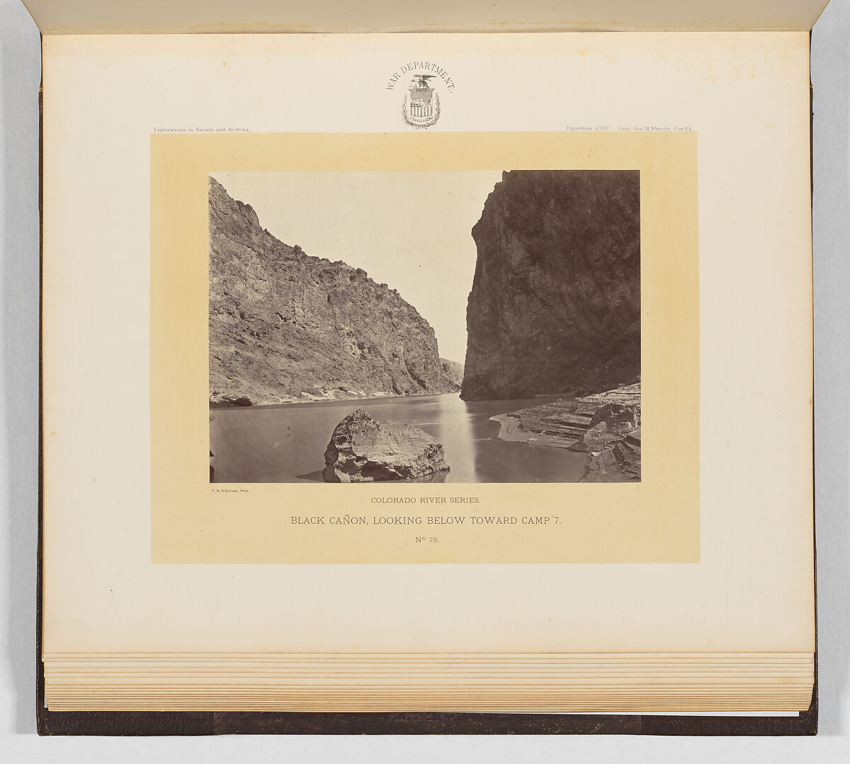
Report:
<svg viewBox="0 0 850 764"><path fill-rule="evenodd" d="M813 732L822 3L535 34L459 9L428 34L218 34L214 9L176 33L187 5L28 3L51 32L43 729Z"/></svg>

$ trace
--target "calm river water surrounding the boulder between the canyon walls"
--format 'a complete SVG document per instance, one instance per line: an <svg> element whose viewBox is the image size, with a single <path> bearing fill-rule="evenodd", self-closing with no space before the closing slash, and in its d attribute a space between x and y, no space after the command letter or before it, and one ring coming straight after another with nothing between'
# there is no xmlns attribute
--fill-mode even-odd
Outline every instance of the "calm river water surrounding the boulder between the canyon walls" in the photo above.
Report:
<svg viewBox="0 0 850 764"><path fill-rule="evenodd" d="M585 472L585 454L496 438L499 424L491 416L545 400L464 402L453 393L214 408L210 449L215 482L321 481L331 433L356 408L378 421L416 425L442 443L451 469L437 476L439 482L576 482Z"/></svg>

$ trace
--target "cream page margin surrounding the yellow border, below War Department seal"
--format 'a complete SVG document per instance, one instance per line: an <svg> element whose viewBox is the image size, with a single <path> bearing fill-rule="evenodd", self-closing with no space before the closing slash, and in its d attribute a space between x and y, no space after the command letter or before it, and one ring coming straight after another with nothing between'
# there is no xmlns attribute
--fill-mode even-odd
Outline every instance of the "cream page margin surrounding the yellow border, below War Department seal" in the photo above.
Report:
<svg viewBox="0 0 850 764"><path fill-rule="evenodd" d="M806 33L50 36L43 50L45 653L813 651ZM453 86L439 122L417 131L393 83L422 62ZM446 134L446 151L450 134L533 145L536 133L575 133L602 157L598 134L694 134L699 383L685 392L698 402L699 469L688 479L699 514L689 562L157 557L152 146L211 132ZM184 203L206 214L205 198ZM664 487L666 444L653 448ZM524 514L535 511L529 495L514 485L493 500ZM602 528L600 513L615 508L596 504L586 522ZM581 501L568 509L581 523ZM638 527L635 543L669 527Z"/></svg>

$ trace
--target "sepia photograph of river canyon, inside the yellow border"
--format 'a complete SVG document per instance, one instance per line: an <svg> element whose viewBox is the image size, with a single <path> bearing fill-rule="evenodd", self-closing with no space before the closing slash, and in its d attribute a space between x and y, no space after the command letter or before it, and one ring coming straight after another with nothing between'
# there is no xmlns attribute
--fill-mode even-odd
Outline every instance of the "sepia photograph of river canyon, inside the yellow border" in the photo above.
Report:
<svg viewBox="0 0 850 764"><path fill-rule="evenodd" d="M210 481L639 482L638 170L212 172Z"/></svg>

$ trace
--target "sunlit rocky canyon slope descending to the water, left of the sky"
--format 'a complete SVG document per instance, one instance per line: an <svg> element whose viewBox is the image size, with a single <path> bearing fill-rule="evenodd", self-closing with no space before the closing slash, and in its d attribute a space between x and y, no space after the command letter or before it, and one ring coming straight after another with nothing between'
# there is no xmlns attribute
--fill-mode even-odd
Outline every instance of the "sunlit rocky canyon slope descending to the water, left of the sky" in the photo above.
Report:
<svg viewBox="0 0 850 764"><path fill-rule="evenodd" d="M212 404L456 391L433 329L395 289L263 229L209 181Z"/></svg>

